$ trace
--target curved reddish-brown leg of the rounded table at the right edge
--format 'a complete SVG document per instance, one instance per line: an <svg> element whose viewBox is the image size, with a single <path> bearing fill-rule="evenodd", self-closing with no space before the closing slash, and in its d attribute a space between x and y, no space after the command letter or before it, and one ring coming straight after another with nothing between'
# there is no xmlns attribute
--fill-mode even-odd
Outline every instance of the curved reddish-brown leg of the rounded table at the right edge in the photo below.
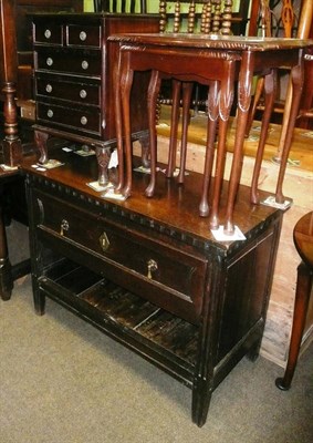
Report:
<svg viewBox="0 0 313 443"><path fill-rule="evenodd" d="M313 270L303 261L298 267L298 281L294 300L293 326L290 341L288 364L283 378L279 378L275 384L282 391L288 391L291 387L295 365L298 362L301 340L305 326L306 311L309 307L310 293L312 290Z"/></svg>

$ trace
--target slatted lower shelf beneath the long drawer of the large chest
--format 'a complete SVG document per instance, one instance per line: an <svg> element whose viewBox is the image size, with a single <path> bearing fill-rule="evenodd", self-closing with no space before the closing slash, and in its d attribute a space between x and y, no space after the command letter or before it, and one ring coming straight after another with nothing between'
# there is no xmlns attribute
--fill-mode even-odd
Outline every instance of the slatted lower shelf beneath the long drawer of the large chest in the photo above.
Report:
<svg viewBox="0 0 313 443"><path fill-rule="evenodd" d="M199 327L69 259L45 268L41 291L191 387Z"/></svg>

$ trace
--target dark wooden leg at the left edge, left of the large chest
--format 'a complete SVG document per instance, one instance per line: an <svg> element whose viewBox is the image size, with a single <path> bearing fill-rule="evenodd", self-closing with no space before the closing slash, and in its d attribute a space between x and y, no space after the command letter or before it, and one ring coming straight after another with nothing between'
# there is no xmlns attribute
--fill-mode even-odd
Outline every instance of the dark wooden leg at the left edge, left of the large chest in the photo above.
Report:
<svg viewBox="0 0 313 443"><path fill-rule="evenodd" d="M2 218L2 207L0 202L0 297L1 299L9 300L11 298L12 289L13 289L13 278L11 272L11 264L9 260L7 234Z"/></svg>

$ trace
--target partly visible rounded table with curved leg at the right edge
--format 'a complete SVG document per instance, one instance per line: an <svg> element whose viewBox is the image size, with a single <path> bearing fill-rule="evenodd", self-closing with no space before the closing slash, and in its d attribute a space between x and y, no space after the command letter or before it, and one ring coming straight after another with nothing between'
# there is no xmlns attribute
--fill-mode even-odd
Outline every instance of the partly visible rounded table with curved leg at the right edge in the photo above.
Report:
<svg viewBox="0 0 313 443"><path fill-rule="evenodd" d="M283 378L279 378L275 381L277 387L282 391L288 391L291 387L303 338L309 301L312 293L313 212L306 214L296 223L293 230L293 240L302 261L298 267L293 324L286 369Z"/></svg>

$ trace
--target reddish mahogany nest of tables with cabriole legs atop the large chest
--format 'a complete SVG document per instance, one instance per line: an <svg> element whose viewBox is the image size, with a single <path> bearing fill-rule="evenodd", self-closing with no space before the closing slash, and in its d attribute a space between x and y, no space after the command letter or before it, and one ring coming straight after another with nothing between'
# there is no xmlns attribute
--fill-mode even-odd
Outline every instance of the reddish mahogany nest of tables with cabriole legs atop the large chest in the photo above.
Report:
<svg viewBox="0 0 313 443"><path fill-rule="evenodd" d="M132 89L134 72L152 71L152 80L147 94L150 133L150 182L146 188L148 197L154 195L156 186L157 147L154 110L163 75L166 74L180 81L196 80L204 84L212 82L215 87L209 90L212 94L209 99L209 115L212 117L209 122L219 117L219 134L213 196L209 209L209 226L212 229L218 229L220 225L220 189L225 173L227 125L232 105L234 81L238 80L237 133L229 179L228 200L223 218L225 233L232 235L234 231L232 213L241 175L242 147L250 105L252 78L255 74L263 74L265 76L267 93L267 106L251 183L251 202L258 204L258 179L274 97L274 70L281 65L289 65L295 86L293 87L293 111L290 115L289 137L285 141L284 157L281 163L275 189L275 202L284 203L282 184L303 85L303 56L306 48L313 44L312 41L296 39L263 40L262 38L249 39L240 37L216 38L210 35L202 37L200 34L157 35L139 33L113 35L109 40L119 44L119 62L115 75L117 80L115 102L117 146L119 153L118 164L121 171L118 190L122 195L128 197L132 192L129 91ZM124 122L124 127L121 122ZM208 207L208 184L210 183L211 165L215 155L213 141L208 137L207 142L200 212L205 206ZM126 158L125 172L122 169L124 157Z"/></svg>

